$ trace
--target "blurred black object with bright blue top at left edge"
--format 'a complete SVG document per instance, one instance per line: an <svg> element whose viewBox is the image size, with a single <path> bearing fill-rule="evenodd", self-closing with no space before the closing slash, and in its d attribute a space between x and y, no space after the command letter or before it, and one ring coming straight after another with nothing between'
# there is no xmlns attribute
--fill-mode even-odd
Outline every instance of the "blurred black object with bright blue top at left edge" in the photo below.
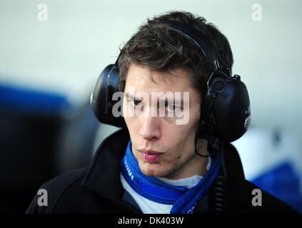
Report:
<svg viewBox="0 0 302 228"><path fill-rule="evenodd" d="M24 213L56 175L57 138L71 110L64 95L0 84L0 214Z"/></svg>

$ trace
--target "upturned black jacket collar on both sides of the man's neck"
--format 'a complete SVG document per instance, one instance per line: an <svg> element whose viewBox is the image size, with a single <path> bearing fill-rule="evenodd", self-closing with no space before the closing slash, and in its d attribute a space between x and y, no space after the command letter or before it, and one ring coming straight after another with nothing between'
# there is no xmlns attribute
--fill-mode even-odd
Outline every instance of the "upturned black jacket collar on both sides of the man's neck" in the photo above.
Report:
<svg viewBox="0 0 302 228"><path fill-rule="evenodd" d="M109 135L96 150L91 167L87 172L81 185L116 202L121 201L124 188L120 180L120 161L123 157L130 136L126 129L121 129ZM249 199L243 167L238 152L233 145L226 143L224 152L224 162L227 172L227 194L228 212L246 212L249 208ZM212 186L210 195L215 193ZM210 197L211 201L211 197ZM201 200L201 202L204 202ZM197 204L196 209L202 208ZM213 210L213 207L210 207Z"/></svg>

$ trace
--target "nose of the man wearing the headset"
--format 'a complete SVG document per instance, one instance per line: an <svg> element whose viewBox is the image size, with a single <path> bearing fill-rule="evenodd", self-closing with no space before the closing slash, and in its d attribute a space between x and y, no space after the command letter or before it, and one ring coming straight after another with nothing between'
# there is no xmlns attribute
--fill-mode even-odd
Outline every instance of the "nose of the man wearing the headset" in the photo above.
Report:
<svg viewBox="0 0 302 228"><path fill-rule="evenodd" d="M142 117L142 126L139 135L145 140L158 140L161 138L160 123L158 117L144 116Z"/></svg>

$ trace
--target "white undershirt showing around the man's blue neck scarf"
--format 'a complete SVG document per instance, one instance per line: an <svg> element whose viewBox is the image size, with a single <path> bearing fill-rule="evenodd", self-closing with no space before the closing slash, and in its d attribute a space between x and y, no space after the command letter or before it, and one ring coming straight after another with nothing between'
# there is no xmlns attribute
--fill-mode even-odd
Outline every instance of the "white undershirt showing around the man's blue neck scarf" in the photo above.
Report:
<svg viewBox="0 0 302 228"><path fill-rule="evenodd" d="M209 170L211 167L211 157L208 157L208 165L206 166L206 169ZM200 175L194 175L192 177L180 179L180 180L168 180L163 177L156 177L161 182L165 182L168 185L175 185L175 186L183 186L187 188L191 188L198 184L198 182L201 181L203 177ZM134 198L136 203L141 208L141 211L144 214L170 214L171 208L173 207L173 204L161 204L158 202L154 202L150 199L147 199L145 197L142 197L134 191L134 189L128 184L128 182L125 180L124 176L121 174L121 184L123 185L124 189L129 192L129 194Z"/></svg>

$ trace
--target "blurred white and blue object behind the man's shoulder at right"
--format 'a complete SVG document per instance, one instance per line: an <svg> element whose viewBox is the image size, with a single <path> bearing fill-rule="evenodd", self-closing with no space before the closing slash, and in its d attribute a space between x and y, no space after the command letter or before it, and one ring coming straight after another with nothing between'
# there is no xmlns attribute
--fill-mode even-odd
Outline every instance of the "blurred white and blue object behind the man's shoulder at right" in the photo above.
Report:
<svg viewBox="0 0 302 228"><path fill-rule="evenodd" d="M295 134L278 127L252 127L232 144L247 180L302 213L302 145Z"/></svg>

